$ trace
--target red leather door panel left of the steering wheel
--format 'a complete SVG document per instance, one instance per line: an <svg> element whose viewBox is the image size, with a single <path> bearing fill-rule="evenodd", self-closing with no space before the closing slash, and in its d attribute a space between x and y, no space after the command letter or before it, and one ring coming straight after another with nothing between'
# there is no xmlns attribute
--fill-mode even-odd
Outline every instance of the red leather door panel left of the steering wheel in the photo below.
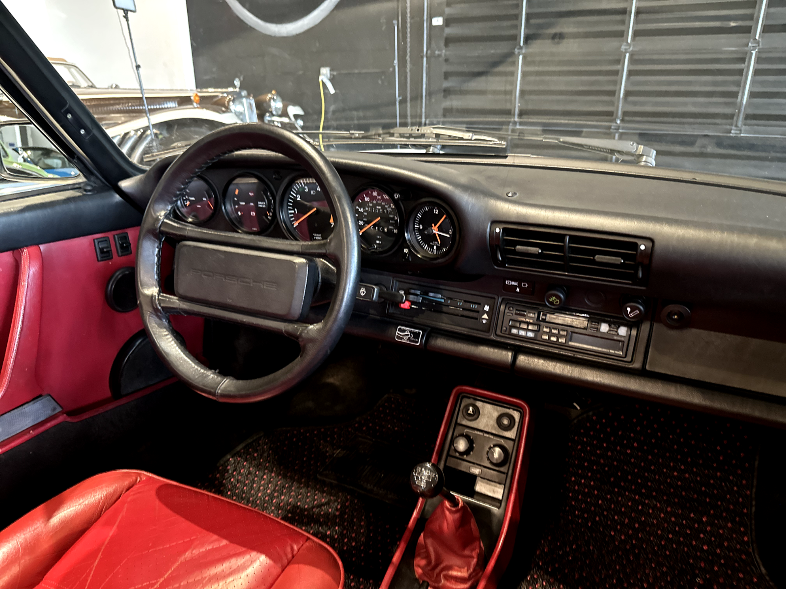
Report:
<svg viewBox="0 0 786 589"><path fill-rule="evenodd" d="M122 232L132 254L119 257L113 236ZM97 261L94 247L101 236L112 241L105 262ZM137 238L138 228L130 228L0 254L0 346L6 348L0 414L42 393L65 412L111 400L112 361L142 324L137 309L112 310L105 288L117 269L134 266ZM173 319L199 355L204 321Z"/></svg>

